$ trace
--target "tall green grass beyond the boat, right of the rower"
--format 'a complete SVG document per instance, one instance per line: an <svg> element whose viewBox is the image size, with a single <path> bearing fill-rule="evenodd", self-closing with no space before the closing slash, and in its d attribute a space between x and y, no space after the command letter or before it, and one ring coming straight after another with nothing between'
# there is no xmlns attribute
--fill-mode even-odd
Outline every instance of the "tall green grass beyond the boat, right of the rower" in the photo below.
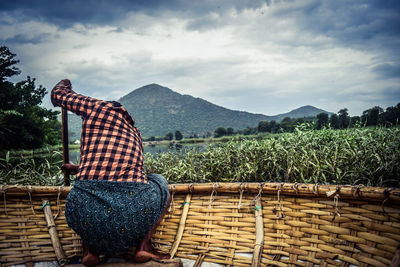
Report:
<svg viewBox="0 0 400 267"><path fill-rule="evenodd" d="M206 151L145 154L148 173L170 182L264 182L396 186L400 182L400 128L312 130L264 140L230 141Z"/></svg>

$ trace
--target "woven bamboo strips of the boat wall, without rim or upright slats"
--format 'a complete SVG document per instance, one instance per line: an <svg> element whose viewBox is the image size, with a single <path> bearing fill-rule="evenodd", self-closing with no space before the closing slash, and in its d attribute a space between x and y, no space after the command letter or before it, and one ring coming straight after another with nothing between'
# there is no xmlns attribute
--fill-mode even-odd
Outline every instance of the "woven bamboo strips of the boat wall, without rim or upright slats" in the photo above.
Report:
<svg viewBox="0 0 400 267"><path fill-rule="evenodd" d="M281 195L284 195L285 186L281 186ZM214 187L218 194L211 209L208 208L209 193L192 194L175 257L195 260L203 255L204 262L249 266L256 243L256 219L251 205L254 195L251 191L244 191L241 208L238 209L239 191L224 193L219 190L219 184ZM257 184L257 187L259 190L261 185ZM317 191L321 191L319 187ZM319 193L315 196L299 194L296 197L286 194L284 199L278 201L277 191L275 195L272 191L263 191L264 243L261 264L265 265L268 261L291 267L314 264L367 266L379 262L382 266L388 266L400 244L399 203L346 199L342 197L341 190L338 203ZM57 193L58 188L52 194L32 194L31 202L36 211L34 216L28 193L15 195L7 190L7 203L0 200L0 265L26 263L28 257L32 261L55 259L45 215L38 211L41 197L48 195L53 203ZM185 202L185 197L182 193L175 195L177 207ZM69 229L64 217L65 199L60 200L61 212L54 222L60 244L67 257L79 256L80 238ZM280 214L279 205L285 218L277 218ZM274 206L279 207L278 213ZM342 216L336 216L332 221L336 208ZM53 214L57 212L57 206L53 205L51 211ZM182 215L184 208L175 208L172 214L165 217L153 235L158 250L170 251L179 228L182 228ZM23 247L23 243L27 246Z"/></svg>

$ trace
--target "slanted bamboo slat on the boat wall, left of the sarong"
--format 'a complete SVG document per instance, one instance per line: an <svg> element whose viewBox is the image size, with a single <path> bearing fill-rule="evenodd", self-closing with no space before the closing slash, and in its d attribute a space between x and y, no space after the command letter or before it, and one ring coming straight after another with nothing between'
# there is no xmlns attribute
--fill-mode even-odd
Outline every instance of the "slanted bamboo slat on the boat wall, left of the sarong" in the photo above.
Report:
<svg viewBox="0 0 400 267"><path fill-rule="evenodd" d="M62 266L65 264L66 256L62 249L60 239L58 238L56 224L54 223L53 214L50 208L50 202L47 199L43 199L42 204L43 204L43 212L45 215L47 227L49 228L51 243L53 245L53 249L56 254L58 263L60 264L60 266Z"/></svg>

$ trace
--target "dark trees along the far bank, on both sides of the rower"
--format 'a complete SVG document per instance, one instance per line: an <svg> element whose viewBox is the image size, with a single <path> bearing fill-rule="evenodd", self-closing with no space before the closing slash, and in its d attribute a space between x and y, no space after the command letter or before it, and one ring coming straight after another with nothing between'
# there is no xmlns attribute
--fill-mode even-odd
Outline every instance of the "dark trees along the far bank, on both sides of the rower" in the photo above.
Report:
<svg viewBox="0 0 400 267"><path fill-rule="evenodd" d="M58 111L41 107L46 89L35 84L35 79L13 83L8 79L21 71L15 66L19 60L6 46L0 46L0 151L8 149L34 149L45 145L57 145L61 140L61 123ZM235 130L232 127L218 127L214 133L207 132L203 138L221 137L236 134L250 135L257 133L292 132L297 125L312 122L316 129L330 127L344 129L360 126L390 127L400 122L400 103L383 110L379 106L365 110L360 116L349 116L347 108L334 114L320 113L316 117L284 118L281 122L260 121L257 127ZM145 141L182 140L182 133L177 130L164 137L150 137ZM196 134L188 138L199 138Z"/></svg>

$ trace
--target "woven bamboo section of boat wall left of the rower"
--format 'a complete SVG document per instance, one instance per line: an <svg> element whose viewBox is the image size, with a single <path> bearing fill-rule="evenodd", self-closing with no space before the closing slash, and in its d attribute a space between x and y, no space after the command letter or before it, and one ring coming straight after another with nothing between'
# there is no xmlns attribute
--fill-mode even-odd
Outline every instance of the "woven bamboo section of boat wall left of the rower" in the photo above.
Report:
<svg viewBox="0 0 400 267"><path fill-rule="evenodd" d="M4 194L0 201L0 264L57 260L45 215L42 198L49 199L61 245L68 257L80 256L80 237L70 229L64 216L65 198L57 194L12 196ZM59 204L57 205L57 201Z"/></svg>

